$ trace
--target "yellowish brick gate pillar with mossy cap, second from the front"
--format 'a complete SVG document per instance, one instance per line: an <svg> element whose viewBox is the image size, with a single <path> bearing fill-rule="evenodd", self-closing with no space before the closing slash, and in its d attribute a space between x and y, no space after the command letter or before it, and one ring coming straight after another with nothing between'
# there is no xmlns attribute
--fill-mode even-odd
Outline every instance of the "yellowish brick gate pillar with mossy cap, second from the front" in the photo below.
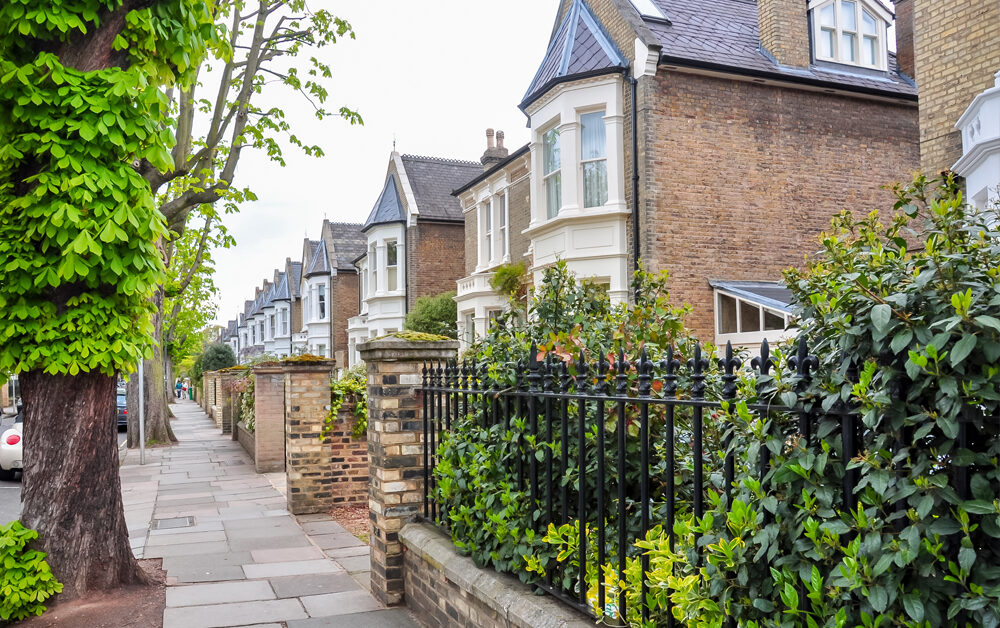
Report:
<svg viewBox="0 0 1000 628"><path fill-rule="evenodd" d="M293 515L329 512L333 452L320 433L330 412L330 379L337 363L289 360L283 364L288 510Z"/></svg>

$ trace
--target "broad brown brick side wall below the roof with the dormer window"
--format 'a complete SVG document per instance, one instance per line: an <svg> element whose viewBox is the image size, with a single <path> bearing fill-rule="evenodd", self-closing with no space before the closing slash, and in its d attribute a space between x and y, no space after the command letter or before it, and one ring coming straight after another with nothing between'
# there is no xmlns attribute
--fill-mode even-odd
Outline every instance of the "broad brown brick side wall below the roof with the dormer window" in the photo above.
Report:
<svg viewBox="0 0 1000 628"><path fill-rule="evenodd" d="M778 280L847 207L891 209L914 107L661 70L644 94L642 255L714 337L709 279Z"/></svg>

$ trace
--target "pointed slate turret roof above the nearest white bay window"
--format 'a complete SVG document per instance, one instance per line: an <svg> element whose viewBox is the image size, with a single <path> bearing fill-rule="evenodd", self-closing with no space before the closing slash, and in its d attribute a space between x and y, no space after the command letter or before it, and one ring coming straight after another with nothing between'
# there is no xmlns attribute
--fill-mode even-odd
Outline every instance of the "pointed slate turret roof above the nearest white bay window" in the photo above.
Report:
<svg viewBox="0 0 1000 628"><path fill-rule="evenodd" d="M524 94L526 108L557 83L583 76L618 72L628 59L582 0L574 0L549 42L542 65Z"/></svg>

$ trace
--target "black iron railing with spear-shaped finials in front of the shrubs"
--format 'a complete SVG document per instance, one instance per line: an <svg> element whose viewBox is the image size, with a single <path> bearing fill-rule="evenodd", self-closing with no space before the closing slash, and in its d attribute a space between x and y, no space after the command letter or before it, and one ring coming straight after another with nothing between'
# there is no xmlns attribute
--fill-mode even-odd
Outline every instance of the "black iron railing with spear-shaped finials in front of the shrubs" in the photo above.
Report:
<svg viewBox="0 0 1000 628"><path fill-rule="evenodd" d="M682 512L702 517L709 486L730 492L734 457L727 454L720 460L716 455L728 450L730 436L720 430L722 422L712 417L725 411L724 404L736 400L743 367L733 357L731 346L719 360L720 369L711 373L700 346L683 363L673 349L655 362L645 350L634 364L622 351L595 358L596 362L589 363L581 356L572 364L552 355L539 359L533 347L525 363L507 370L513 374L504 382L491 378L487 365L433 363L423 369L422 386L424 517L444 527L449 523L447 504L437 499L434 476L442 432L451 430L458 417L471 416L483 426L505 429L511 429L515 419L523 420L511 481L540 512L535 519L539 533L550 523L576 522L580 539L576 573L568 574L570 584L560 584L566 582L562 576L567 574L558 573L557 567L547 570L539 586L588 613L592 612L586 585L588 528L596 529L597 565L607 564L610 554L624 580L626 559L635 555L634 542L645 538L652 526L673 530ZM790 377L804 390L817 359L802 343L788 363L794 369ZM774 368L766 341L747 366L762 382L748 410L764 419L797 417L774 422L778 426L774 429L785 429L788 438L805 438L808 443L813 438L814 416L801 408L763 401L763 382ZM714 382L719 385L713 388L720 391L716 398L706 398L710 376L721 378ZM836 416L841 424L840 450L849 460L857 453L860 422L845 408ZM536 446L530 447L529 442ZM662 461L655 469L651 467L654 448L657 461ZM764 447L759 469L762 481L769 470ZM842 487L843 504L852 509L856 481L856 472L849 472ZM648 558L643 556L642 561L644 571L648 570ZM558 581L554 572L560 576ZM627 617L625 592L608 599L603 580L598 578L597 606L613 608L611 617ZM642 586L645 598L645 583Z"/></svg>

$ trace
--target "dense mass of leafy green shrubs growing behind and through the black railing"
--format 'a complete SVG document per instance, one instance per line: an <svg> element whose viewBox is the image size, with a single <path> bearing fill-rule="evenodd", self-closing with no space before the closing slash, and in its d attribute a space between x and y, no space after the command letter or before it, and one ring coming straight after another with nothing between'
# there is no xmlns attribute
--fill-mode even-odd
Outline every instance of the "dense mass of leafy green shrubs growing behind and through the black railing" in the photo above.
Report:
<svg viewBox="0 0 1000 628"><path fill-rule="evenodd" d="M771 373L740 373L738 401L725 403L711 422L731 439L731 496L721 478L724 440L708 434L705 516L695 520L679 509L673 530L654 527L623 549L623 580L613 540L602 568L592 555L585 584L598 617L616 611L597 608L594 591L603 579L608 599L624 589L626 619L636 626L663 625L668 612L678 626L706 628L726 626L730 617L746 628L1000 626L1000 213L970 210L950 178L920 177L896 194L901 213L837 216L821 255L786 273L800 307L799 336L818 360L813 377L797 375L787 349L775 352ZM622 313L582 299L585 288L560 290L560 278L553 279L540 287L544 305L535 308L535 321L519 327L502 320L511 328L476 348L477 359L490 360L485 378L498 388L509 376L504 365L524 357L529 338L563 359L580 349L607 350L611 339L630 356L640 346L657 354L668 344L687 352L673 310L661 324L657 308L640 299L637 309L653 324L633 316L622 329ZM718 384L710 375L709 396L718 398ZM752 410L758 401L809 412L811 438L799 434L797 415L761 416ZM845 456L841 427L849 413L859 425L858 448ZM453 536L458 526L477 544L467 548L477 562L523 565L530 570L523 578L575 571L576 522L516 544L491 535L530 528L537 516L514 490L503 457L523 425L491 430L462 419L442 440L437 476ZM763 451L770 464L761 477ZM679 461L683 456L678 451ZM845 499L848 476L856 488ZM561 480L579 487L578 473ZM684 478L677 486L685 490ZM664 519L656 488L651 495L655 524ZM491 509L497 502L520 503ZM595 543L588 527L588 547ZM514 557L524 545L529 551Z"/></svg>

